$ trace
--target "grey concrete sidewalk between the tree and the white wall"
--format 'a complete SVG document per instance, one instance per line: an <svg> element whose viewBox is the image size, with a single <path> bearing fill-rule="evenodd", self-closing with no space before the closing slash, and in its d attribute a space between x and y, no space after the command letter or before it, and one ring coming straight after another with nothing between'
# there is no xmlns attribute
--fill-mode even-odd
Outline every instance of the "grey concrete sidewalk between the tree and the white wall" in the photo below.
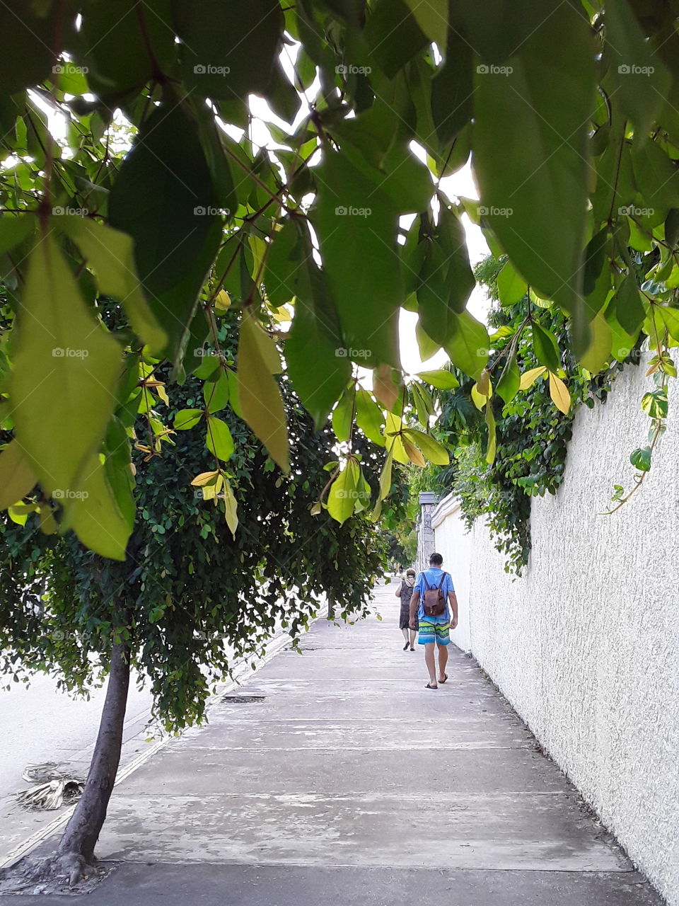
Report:
<svg viewBox="0 0 679 906"><path fill-rule="evenodd" d="M395 588L383 622L317 622L116 788L98 854L120 864L88 904L663 902L473 660L451 646L424 688Z"/></svg>

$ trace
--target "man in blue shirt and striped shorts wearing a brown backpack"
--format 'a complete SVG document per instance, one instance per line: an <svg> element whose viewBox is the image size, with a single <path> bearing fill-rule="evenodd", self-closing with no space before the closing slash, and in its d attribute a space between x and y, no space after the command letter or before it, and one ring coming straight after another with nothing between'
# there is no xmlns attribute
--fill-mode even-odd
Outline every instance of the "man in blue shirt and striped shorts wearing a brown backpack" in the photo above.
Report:
<svg viewBox="0 0 679 906"><path fill-rule="evenodd" d="M429 557L429 569L417 575L413 596L410 599L410 628L416 629L419 622L417 641L418 644L425 646L425 663L429 671L426 689L438 689L438 684L448 679L445 672L445 665L448 662L447 646L450 644L450 629L457 625L457 598L450 574L444 573L441 569L443 562L441 554L432 554ZM429 594L425 595L426 592ZM452 620L448 605L453 611ZM442 612L431 615L425 612L425 607L428 611L442 610ZM435 645L438 649L438 677Z"/></svg>

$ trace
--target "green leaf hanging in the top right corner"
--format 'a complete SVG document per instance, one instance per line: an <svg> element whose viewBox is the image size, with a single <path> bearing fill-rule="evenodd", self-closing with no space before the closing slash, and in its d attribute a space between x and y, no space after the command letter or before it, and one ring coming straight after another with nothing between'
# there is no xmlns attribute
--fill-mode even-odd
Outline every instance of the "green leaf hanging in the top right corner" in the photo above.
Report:
<svg viewBox="0 0 679 906"><path fill-rule="evenodd" d="M606 51L613 94L635 132L645 135L670 87L670 76L646 40L627 0L606 2Z"/></svg>

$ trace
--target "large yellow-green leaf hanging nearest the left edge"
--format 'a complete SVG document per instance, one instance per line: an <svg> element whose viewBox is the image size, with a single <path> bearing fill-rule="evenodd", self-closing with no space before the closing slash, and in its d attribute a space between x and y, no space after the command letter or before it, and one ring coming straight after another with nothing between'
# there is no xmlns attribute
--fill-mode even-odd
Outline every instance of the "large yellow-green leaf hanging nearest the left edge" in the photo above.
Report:
<svg viewBox="0 0 679 906"><path fill-rule="evenodd" d="M30 257L17 320L16 440L48 494L77 491L115 405L121 352L83 303L49 228ZM93 549L105 548L102 536Z"/></svg>

